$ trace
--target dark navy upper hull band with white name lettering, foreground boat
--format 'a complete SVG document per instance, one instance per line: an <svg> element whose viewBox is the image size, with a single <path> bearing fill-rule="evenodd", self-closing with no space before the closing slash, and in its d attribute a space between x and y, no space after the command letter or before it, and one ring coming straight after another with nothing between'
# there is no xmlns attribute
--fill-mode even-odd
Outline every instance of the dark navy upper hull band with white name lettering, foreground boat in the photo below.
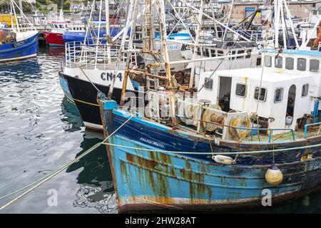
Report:
<svg viewBox="0 0 321 228"><path fill-rule="evenodd" d="M116 110L113 113L113 123L107 122L108 132L112 133L120 127L130 115ZM309 140L297 140L286 142L235 142L221 140L220 145L216 145L214 141L198 137L197 135L184 135L177 133L171 128L163 128L161 125L146 125L140 118L135 118L118 130L118 135L130 138L137 142L158 147L160 150L167 151L183 151L183 152L239 152L239 151L256 151L256 150L272 150L289 147L301 147L305 145L315 145L321 142L320 137L310 138ZM307 149L289 150L282 153L275 153L275 162L297 162L301 156L310 152L313 157L320 157L320 146ZM188 155L190 157L213 161L211 155ZM263 156L263 157L262 157ZM235 155L231 155L235 157ZM264 155L248 155L239 156L238 163L240 165L271 165L273 160L272 152Z"/></svg>

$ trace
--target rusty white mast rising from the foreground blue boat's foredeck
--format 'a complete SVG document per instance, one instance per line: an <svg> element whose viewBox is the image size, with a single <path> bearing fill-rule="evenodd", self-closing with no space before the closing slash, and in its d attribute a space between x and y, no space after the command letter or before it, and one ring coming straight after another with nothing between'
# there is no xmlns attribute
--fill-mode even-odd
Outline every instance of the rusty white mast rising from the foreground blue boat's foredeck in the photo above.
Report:
<svg viewBox="0 0 321 228"><path fill-rule="evenodd" d="M202 0L203 1L203 0ZM156 5L158 8L158 17L159 17L159 25L161 30L161 44L162 44L162 54L165 63L165 72L168 81L168 92L170 98L170 118L173 123L173 129L177 126L177 120L175 118L175 88L173 85L173 78L170 73L170 64L169 64L169 56L168 56L168 48L166 44L166 26L165 26L165 4L164 0L156 0Z"/></svg>

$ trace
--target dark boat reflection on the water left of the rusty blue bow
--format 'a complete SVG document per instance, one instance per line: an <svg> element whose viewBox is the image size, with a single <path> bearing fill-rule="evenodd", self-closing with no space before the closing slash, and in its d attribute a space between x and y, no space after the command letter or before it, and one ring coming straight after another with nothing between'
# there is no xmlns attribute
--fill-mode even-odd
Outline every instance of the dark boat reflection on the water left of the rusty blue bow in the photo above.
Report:
<svg viewBox="0 0 321 228"><path fill-rule="evenodd" d="M63 113L61 120L66 123L64 130L68 132L81 130L83 124L78 110L66 97L63 98L61 103L61 111ZM102 140L103 134L85 130L83 142L80 145L82 150L76 157ZM99 147L68 167L66 172L74 172L76 170L81 170L76 177L80 188L76 192L76 200L73 202L73 207L93 207L101 213L116 212L117 202L106 148Z"/></svg>

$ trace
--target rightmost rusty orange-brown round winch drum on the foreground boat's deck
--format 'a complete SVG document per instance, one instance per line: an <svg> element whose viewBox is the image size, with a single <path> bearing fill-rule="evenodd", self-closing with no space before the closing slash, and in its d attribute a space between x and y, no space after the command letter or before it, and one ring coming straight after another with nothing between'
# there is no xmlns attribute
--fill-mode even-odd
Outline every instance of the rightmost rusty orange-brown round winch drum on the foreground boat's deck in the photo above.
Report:
<svg viewBox="0 0 321 228"><path fill-rule="evenodd" d="M244 118L233 118L230 120L230 127L229 132L234 137L238 138L246 138L250 134L250 129L238 129L238 128L250 128L251 121L250 118L244 117Z"/></svg>

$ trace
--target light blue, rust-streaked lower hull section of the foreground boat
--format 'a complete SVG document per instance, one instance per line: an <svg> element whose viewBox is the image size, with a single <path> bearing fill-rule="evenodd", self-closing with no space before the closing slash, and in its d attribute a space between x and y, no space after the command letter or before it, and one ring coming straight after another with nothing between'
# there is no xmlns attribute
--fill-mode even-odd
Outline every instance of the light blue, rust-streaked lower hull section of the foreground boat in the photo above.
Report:
<svg viewBox="0 0 321 228"><path fill-rule="evenodd" d="M320 159L277 165L281 185L265 181L269 166L221 165L182 155L154 152L158 148L116 135L111 140L113 179L120 212L148 209L220 209L261 205L263 190L271 202L299 197L320 186ZM140 150L140 148L148 149Z"/></svg>

